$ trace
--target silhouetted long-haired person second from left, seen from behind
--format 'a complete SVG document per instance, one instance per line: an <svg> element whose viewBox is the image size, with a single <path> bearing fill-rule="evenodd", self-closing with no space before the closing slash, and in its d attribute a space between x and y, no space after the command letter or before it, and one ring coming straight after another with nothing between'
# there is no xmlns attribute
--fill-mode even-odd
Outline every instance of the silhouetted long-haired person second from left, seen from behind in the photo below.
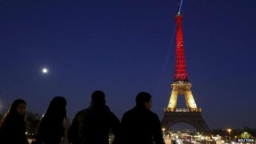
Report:
<svg viewBox="0 0 256 144"><path fill-rule="evenodd" d="M64 97L54 97L40 120L35 143L60 144L65 141L67 129L67 101ZM67 141L66 141L67 142Z"/></svg>

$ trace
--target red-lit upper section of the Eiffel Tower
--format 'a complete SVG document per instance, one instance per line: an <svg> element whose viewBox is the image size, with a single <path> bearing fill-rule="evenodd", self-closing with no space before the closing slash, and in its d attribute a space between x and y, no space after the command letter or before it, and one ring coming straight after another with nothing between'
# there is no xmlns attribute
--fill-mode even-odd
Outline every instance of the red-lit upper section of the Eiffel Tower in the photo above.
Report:
<svg viewBox="0 0 256 144"><path fill-rule="evenodd" d="M188 82L188 72L185 61L184 41L182 32L182 15L178 12L175 16L176 28L176 59L175 59L175 74L174 82Z"/></svg>

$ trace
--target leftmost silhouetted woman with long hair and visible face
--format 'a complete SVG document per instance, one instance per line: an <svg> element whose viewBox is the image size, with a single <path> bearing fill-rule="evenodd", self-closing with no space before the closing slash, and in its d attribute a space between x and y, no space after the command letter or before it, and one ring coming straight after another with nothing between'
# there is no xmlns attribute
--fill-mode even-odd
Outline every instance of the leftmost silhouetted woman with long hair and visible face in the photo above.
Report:
<svg viewBox="0 0 256 144"><path fill-rule="evenodd" d="M17 99L12 103L8 113L3 118L0 126L0 143L1 144L28 144L26 138L26 102Z"/></svg>

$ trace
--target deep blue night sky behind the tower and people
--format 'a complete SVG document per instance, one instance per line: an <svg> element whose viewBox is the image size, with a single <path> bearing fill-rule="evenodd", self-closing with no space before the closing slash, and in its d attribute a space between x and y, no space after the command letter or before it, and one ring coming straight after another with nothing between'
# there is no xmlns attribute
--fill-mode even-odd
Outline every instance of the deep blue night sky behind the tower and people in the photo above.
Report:
<svg viewBox="0 0 256 144"><path fill-rule="evenodd" d="M68 116L106 93L118 118L138 92L163 118L175 65L176 0L0 1L0 102L44 113L67 99ZM211 129L256 127L256 1L184 0L189 81ZM42 68L49 68L42 74ZM179 97L179 107L185 107Z"/></svg>

